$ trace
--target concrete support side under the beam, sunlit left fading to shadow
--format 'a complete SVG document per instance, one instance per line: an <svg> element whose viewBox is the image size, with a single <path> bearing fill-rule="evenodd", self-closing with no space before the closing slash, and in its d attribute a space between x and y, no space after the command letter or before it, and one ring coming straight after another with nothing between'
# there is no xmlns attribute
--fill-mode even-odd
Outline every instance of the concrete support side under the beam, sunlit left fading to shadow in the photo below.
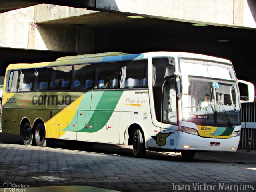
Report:
<svg viewBox="0 0 256 192"><path fill-rule="evenodd" d="M28 23L28 49L74 52L94 51L94 29Z"/></svg>

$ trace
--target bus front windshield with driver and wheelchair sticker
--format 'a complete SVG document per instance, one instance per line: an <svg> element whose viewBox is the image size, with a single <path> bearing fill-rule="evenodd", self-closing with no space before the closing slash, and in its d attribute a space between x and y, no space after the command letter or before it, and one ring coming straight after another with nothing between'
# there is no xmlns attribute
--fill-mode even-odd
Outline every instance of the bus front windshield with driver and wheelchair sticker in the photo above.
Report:
<svg viewBox="0 0 256 192"><path fill-rule="evenodd" d="M182 96L182 120L196 125L234 127L240 124L236 84L209 79L189 79L189 93Z"/></svg>

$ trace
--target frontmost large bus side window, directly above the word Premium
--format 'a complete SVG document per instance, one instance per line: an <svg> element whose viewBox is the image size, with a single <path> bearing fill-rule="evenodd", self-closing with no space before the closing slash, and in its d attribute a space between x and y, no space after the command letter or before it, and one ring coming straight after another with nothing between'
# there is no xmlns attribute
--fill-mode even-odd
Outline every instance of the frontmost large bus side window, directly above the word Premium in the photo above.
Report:
<svg viewBox="0 0 256 192"><path fill-rule="evenodd" d="M138 60L126 62L122 68L121 88L148 87L147 61Z"/></svg>

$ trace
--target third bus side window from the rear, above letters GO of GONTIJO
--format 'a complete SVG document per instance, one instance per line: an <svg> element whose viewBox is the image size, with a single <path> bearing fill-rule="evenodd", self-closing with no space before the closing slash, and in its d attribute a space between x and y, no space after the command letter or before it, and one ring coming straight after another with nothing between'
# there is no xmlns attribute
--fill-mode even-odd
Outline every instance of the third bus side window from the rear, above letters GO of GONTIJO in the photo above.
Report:
<svg viewBox="0 0 256 192"><path fill-rule="evenodd" d="M37 68L35 73L35 80L33 90L48 90L48 82L50 79L52 68Z"/></svg>

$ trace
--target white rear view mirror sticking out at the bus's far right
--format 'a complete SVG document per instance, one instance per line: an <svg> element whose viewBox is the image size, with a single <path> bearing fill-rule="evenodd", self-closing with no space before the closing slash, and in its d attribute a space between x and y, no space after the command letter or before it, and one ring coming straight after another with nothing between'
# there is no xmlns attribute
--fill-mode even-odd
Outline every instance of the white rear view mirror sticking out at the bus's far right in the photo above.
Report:
<svg viewBox="0 0 256 192"><path fill-rule="evenodd" d="M244 80L238 80L241 103L254 102L254 85Z"/></svg>

